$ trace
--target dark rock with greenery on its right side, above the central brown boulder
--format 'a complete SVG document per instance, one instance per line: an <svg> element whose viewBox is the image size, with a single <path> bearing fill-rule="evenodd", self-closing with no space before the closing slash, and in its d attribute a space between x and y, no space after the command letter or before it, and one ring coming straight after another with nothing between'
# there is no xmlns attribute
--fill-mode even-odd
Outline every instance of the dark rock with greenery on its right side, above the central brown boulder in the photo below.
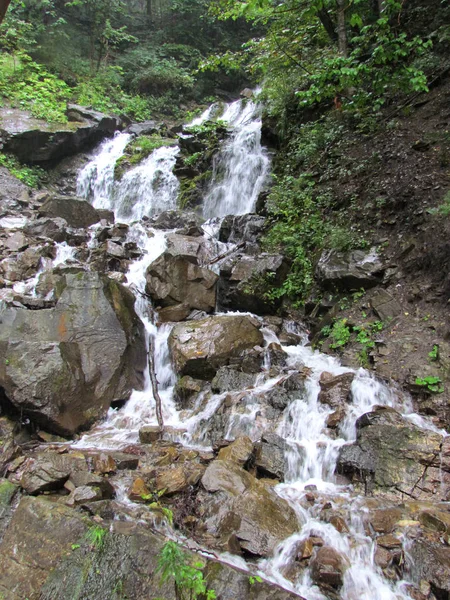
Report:
<svg viewBox="0 0 450 600"><path fill-rule="evenodd" d="M265 294L285 280L289 266L281 254L239 256L224 263L218 284L218 305L223 310L272 314L277 302Z"/></svg>

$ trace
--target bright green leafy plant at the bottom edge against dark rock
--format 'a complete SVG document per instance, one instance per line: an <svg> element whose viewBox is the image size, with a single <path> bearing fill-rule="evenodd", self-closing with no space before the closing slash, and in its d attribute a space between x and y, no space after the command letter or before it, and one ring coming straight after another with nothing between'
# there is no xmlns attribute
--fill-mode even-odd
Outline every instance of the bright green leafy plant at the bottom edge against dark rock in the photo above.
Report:
<svg viewBox="0 0 450 600"><path fill-rule="evenodd" d="M161 584L173 580L179 600L216 598L214 590L207 588L202 568L203 563L193 562L176 542L166 542L158 557L157 573L161 574Z"/></svg>

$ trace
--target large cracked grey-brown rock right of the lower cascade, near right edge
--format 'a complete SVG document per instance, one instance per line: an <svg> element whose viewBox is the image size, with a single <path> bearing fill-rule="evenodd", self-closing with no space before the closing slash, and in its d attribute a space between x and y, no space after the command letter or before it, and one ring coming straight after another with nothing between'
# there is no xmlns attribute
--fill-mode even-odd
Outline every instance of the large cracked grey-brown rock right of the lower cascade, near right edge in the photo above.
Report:
<svg viewBox="0 0 450 600"><path fill-rule="evenodd" d="M356 429L356 443L340 452L340 473L369 486L404 490L413 497L438 492L441 435L420 429L384 407L360 417Z"/></svg>

